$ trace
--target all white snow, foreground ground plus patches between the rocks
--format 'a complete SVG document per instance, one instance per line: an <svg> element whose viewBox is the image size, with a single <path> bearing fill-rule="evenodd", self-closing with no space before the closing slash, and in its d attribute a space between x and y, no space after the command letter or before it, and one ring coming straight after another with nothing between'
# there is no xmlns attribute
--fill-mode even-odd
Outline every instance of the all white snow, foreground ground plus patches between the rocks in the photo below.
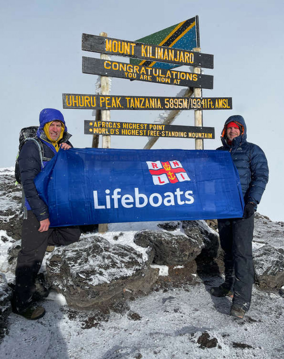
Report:
<svg viewBox="0 0 284 359"><path fill-rule="evenodd" d="M0 169L11 174L13 168ZM2 204L2 202L1 202ZM283 238L267 220L258 220L255 249L271 244L283 247ZM111 244L132 246L147 259L146 248L133 243L140 230L161 230L156 222L110 224L101 237ZM205 226L206 223L204 222ZM173 233L183 234L179 228ZM91 234L85 235L86 238ZM7 262L12 239L0 229L0 274L5 280L14 278ZM45 261L52 255L48 253ZM154 267L152 265L152 267ZM159 267L160 277L167 278L167 266ZM184 270L176 266L175 271ZM159 280L158 278L158 280ZM153 291L127 304L140 320L131 320L127 313L74 311L61 294L50 292L42 303L46 314L38 321L27 321L11 313L9 333L0 344L0 358L45 359L184 359L184 358L283 358L284 300L278 292L253 288L250 311L243 320L229 316L231 299L211 297L209 289L220 279L200 278L193 274L194 285ZM170 278L169 278L170 280ZM105 318L105 320L104 320ZM197 343L203 332L218 343L215 348L201 348ZM241 348L241 344L246 348Z"/></svg>

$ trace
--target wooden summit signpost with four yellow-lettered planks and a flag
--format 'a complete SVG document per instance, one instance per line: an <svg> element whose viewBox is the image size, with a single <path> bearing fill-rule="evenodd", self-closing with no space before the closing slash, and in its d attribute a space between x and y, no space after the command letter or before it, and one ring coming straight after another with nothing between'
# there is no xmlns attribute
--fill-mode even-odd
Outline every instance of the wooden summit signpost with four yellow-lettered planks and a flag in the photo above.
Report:
<svg viewBox="0 0 284 359"><path fill-rule="evenodd" d="M203 139L214 139L213 127L203 127L202 111L232 109L231 97L202 97L202 88L213 89L213 76L201 73L201 67L213 69L213 55L201 53L198 16L136 41L82 34L82 50L100 53L100 59L82 57L82 72L101 76L101 94L62 94L63 108L95 109L96 120L84 122L84 133L93 135L97 146L110 147L110 136L148 136L144 148L151 148L159 137L192 138L196 149L203 149ZM130 63L111 61L108 55L130 58ZM192 66L193 72L177 71L178 66ZM174 70L173 70L174 69ZM108 77L147 81L187 87L183 97L110 95ZM194 93L194 97L191 97ZM163 124L110 121L111 109L168 110ZM182 110L194 110L195 126L170 123ZM99 232L107 230L99 225Z"/></svg>

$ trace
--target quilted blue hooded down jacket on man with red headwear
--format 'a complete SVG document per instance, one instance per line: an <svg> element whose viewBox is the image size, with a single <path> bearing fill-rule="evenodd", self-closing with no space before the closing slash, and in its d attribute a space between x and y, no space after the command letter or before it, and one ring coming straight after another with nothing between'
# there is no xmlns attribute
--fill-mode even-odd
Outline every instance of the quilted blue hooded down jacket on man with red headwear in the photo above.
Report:
<svg viewBox="0 0 284 359"><path fill-rule="evenodd" d="M232 140L231 146L227 143L226 125L235 122L242 129L240 136ZM245 204L253 202L255 209L268 182L268 164L263 150L246 140L246 124L240 115L230 116L225 122L221 141L223 146L217 150L230 151L232 160L239 172L242 194Z"/></svg>

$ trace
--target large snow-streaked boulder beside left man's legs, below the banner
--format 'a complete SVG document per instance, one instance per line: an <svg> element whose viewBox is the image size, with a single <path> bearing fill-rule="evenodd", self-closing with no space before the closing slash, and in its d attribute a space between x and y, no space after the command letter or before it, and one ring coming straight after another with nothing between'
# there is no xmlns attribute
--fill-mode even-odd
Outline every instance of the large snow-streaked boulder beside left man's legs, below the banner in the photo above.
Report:
<svg viewBox="0 0 284 359"><path fill-rule="evenodd" d="M98 236L59 247L47 260L47 279L69 306L101 308L148 294L159 271L147 267L130 246L110 244Z"/></svg>

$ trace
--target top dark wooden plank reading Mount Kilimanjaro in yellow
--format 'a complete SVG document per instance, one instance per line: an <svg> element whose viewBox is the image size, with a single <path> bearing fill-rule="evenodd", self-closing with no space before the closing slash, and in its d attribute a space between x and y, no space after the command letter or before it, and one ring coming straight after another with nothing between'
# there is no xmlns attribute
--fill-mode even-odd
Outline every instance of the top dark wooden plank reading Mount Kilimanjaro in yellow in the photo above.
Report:
<svg viewBox="0 0 284 359"><path fill-rule="evenodd" d="M213 55L180 48L82 34L82 50L125 56L134 59L213 69Z"/></svg>

